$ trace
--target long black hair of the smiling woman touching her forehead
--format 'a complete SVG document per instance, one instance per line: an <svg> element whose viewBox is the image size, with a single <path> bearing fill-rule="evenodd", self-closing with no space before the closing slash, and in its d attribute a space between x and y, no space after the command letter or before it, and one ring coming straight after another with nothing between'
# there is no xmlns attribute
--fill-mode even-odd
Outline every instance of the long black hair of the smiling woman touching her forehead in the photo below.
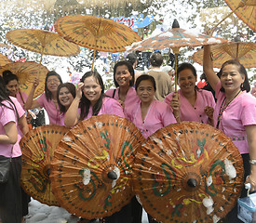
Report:
<svg viewBox="0 0 256 223"><path fill-rule="evenodd" d="M86 72L82 76L80 82L84 83L85 79L88 78L89 76L93 76L95 78L96 82L98 82L98 84L101 85L101 96L98 99L98 101L95 103L95 105L92 107L92 115L96 116L96 115L98 115L98 113L101 110L102 99L104 97L105 87L104 87L104 84L103 84L103 81L102 81L102 78L101 78L101 74L99 72L96 72L96 71ZM80 103L79 103L79 108L81 109L80 120L84 120L85 117L88 116L89 106L90 106L90 101L88 100L87 97L85 97L85 94L83 93L82 98L81 98Z"/></svg>

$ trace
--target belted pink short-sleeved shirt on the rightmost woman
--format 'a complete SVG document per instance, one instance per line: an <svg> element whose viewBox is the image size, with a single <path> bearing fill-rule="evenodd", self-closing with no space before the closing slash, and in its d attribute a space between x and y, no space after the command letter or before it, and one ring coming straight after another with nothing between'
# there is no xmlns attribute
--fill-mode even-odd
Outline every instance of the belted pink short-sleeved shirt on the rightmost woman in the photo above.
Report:
<svg viewBox="0 0 256 223"><path fill-rule="evenodd" d="M224 92L220 91L221 81L216 85L215 97L216 108L213 113L214 126L217 125L218 115L225 98ZM219 129L232 139L241 154L249 153L245 125L256 125L256 98L246 91L238 95L222 112Z"/></svg>

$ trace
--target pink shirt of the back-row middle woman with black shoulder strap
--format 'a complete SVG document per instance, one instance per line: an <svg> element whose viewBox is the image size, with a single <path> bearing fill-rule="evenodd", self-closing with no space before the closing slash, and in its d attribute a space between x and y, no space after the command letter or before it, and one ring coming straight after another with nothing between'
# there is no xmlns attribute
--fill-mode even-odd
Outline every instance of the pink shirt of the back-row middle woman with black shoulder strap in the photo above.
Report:
<svg viewBox="0 0 256 223"><path fill-rule="evenodd" d="M109 96L110 98L113 98L113 94L114 94L114 90L115 89L108 89L105 94L107 96ZM119 91L119 87L116 88L115 90L115 96L114 98L116 100L119 100L119 95L118 95L118 91ZM128 117L128 111L130 110L130 107L132 107L135 103L138 103L140 101L140 98L137 96L136 90L134 87L130 86L128 88L128 93L127 93L127 97L125 99L125 116L126 118Z"/></svg>

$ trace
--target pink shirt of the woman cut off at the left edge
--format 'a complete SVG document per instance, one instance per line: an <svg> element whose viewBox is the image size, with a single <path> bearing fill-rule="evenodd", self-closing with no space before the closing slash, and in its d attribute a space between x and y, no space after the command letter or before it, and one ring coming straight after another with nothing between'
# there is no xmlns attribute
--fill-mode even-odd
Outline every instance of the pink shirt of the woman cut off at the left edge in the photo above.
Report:
<svg viewBox="0 0 256 223"><path fill-rule="evenodd" d="M10 122L13 122L16 124L16 126L18 128L18 119L17 119L13 104L11 104L11 102L9 102L7 100L2 101L2 103L7 105L7 107L10 108L9 109L4 105L0 106L0 135L6 135L4 126ZM11 144L0 143L0 155L10 157L11 156L11 148L12 148ZM13 157L15 157L14 149L13 149Z"/></svg>

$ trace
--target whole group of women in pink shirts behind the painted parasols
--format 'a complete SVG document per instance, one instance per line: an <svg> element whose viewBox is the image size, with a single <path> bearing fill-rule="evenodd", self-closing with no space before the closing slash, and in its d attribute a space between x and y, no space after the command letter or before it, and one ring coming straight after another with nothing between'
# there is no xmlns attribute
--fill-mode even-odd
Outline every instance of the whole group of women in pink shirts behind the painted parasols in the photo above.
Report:
<svg viewBox="0 0 256 223"><path fill-rule="evenodd" d="M134 83L134 70L128 61L119 61L115 64L115 89L106 92L98 72L86 72L76 88L71 83L62 84L61 76L57 72L48 72L45 93L39 98L33 99L34 90L38 85L36 78L29 96L20 97L23 99L18 97L20 94L18 87L14 94L10 87L9 96L16 97L20 101L17 103L15 98L7 95L5 87L6 85L8 87L8 83L6 82L5 85L0 79L0 154L10 156L13 151L12 157L15 161L12 163L12 174L7 185L0 185L0 216L3 223L20 222L22 216L20 209L13 205L20 203L17 201L20 194L10 196L10 191L18 193L18 190L12 187L20 188L21 152L17 144L19 141L17 135L20 130L20 136L28 131L24 127L26 123L22 121L25 113L22 107L25 110L44 107L49 117L49 124L68 127L73 127L91 116L115 114L126 117L136 125L144 138L148 138L164 126L181 121L213 125L234 140L244 159L245 176L249 176L247 182L251 184L251 190L256 190L254 173L256 171L256 99L247 93L249 92L247 72L236 60L229 60L222 65L219 79L213 72L209 46L205 46L204 72L216 92L216 105L210 92L196 88L195 68L189 63L182 63L178 68L180 90L169 94L163 102L155 99L156 85L153 76L141 74ZM18 79L16 81L18 85ZM14 87L16 81L9 85ZM17 149L12 145L16 145ZM141 210L141 204L133 198L121 211L101 221L141 223ZM236 214L233 213L235 211L225 219L226 222L239 222ZM16 216L20 218L14 219ZM156 222L151 216L148 217L150 222Z"/></svg>

